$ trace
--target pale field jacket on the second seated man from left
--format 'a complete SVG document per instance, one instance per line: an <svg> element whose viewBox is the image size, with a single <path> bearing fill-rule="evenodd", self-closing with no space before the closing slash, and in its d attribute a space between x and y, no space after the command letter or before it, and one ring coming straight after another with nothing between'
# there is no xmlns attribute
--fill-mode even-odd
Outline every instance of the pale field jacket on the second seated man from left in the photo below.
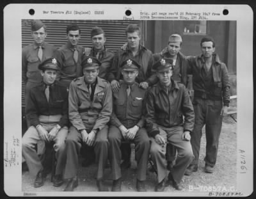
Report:
<svg viewBox="0 0 256 199"><path fill-rule="evenodd" d="M69 120L78 131L93 125L93 130L101 130L112 114L112 92L108 81L97 77L93 100L90 100L84 77L70 83L68 94Z"/></svg>

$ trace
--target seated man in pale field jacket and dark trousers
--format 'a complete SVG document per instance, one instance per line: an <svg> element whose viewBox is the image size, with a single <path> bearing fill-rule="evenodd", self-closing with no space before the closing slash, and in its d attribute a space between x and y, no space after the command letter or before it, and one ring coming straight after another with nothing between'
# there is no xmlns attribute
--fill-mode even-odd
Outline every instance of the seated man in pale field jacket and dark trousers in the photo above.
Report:
<svg viewBox="0 0 256 199"><path fill-rule="evenodd" d="M103 185L103 171L108 160L108 125L112 114L112 92L108 81L98 77L100 61L84 58L83 77L70 83L68 95L69 120L72 126L67 136L67 166L64 191L73 191L78 186L78 154L82 144L93 147L97 168L97 187L106 191Z"/></svg>

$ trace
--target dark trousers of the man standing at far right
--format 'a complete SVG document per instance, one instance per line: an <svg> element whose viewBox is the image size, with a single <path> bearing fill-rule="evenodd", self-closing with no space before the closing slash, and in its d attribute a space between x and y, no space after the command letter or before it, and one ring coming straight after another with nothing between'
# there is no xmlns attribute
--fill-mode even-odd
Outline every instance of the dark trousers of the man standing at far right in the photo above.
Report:
<svg viewBox="0 0 256 199"><path fill-rule="evenodd" d="M221 100L208 100L195 97L193 101L195 111L195 125L191 134L191 145L195 159L191 164L198 164L202 128L205 125L206 153L205 164L214 166L216 164L219 138L222 126Z"/></svg>

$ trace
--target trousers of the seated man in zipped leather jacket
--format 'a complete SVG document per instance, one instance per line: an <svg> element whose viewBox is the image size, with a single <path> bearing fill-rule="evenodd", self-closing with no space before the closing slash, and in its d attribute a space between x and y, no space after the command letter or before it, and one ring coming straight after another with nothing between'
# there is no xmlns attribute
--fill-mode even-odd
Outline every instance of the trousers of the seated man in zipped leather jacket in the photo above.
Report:
<svg viewBox="0 0 256 199"><path fill-rule="evenodd" d="M173 166L172 175L175 182L179 183L184 176L185 170L193 160L193 151L189 141L182 139L184 128L182 126L176 127L162 127L159 126L160 135L168 142L172 143L177 148L176 164ZM158 182L161 182L167 175L165 148L156 143L154 138L150 138L150 155L154 165L157 169Z"/></svg>

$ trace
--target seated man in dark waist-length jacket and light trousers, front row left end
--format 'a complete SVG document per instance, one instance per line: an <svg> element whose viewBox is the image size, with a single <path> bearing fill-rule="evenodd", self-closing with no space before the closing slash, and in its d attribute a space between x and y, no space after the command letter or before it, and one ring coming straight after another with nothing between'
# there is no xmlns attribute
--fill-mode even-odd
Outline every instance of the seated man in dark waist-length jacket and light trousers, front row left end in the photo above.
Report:
<svg viewBox="0 0 256 199"><path fill-rule="evenodd" d="M44 141L46 145L54 142L57 164L53 185L61 186L66 163L68 93L67 88L55 81L59 70L56 58L45 60L38 68L42 83L29 91L26 117L31 126L22 137L22 157L26 160L30 173L36 175L34 186L43 186L47 173L36 154L35 145L38 141Z"/></svg>

